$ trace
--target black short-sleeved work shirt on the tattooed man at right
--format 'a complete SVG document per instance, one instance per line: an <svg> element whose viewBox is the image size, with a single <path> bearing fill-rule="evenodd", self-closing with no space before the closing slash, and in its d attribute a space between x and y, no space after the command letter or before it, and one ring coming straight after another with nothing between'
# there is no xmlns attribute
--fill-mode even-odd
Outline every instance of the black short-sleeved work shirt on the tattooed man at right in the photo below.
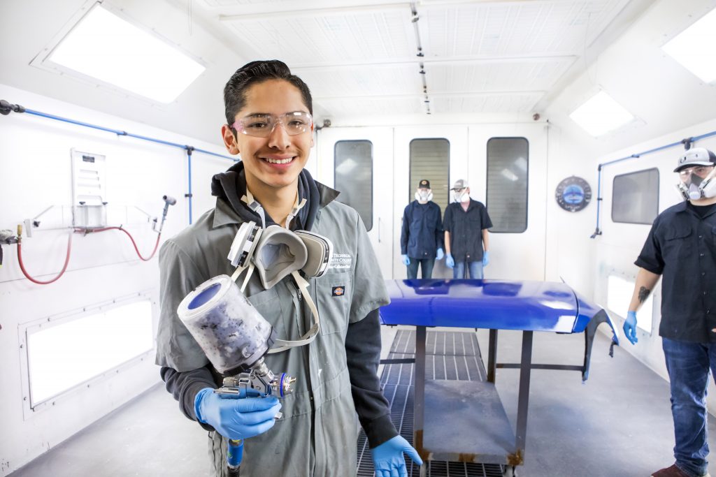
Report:
<svg viewBox="0 0 716 477"><path fill-rule="evenodd" d="M698 207L703 217L696 207L659 214L634 264L662 275L659 335L716 343L716 205Z"/></svg>

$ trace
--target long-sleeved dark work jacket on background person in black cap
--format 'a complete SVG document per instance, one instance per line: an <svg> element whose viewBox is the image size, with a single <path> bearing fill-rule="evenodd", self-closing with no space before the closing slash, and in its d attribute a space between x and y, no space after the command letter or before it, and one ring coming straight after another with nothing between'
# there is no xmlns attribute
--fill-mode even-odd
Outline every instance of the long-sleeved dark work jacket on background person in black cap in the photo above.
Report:
<svg viewBox="0 0 716 477"><path fill-rule="evenodd" d="M435 258L443 240L440 206L435 202L421 204L413 200L403 211L400 253L424 260Z"/></svg>

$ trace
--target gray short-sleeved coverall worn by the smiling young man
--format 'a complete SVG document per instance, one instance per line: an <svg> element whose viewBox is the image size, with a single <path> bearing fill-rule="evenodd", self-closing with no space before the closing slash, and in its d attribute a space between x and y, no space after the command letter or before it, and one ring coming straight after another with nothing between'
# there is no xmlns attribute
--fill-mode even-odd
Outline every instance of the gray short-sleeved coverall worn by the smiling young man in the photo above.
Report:
<svg viewBox="0 0 716 477"><path fill-rule="evenodd" d="M269 368L294 376L296 385L294 393L282 400L283 417L274 428L245 441L242 476L342 477L356 472L358 421L346 365L346 332L349 323L362 320L372 310L387 305L389 299L359 215L334 201L334 190L322 185L319 190L321 205L311 231L328 237L334 245L326 275L309 280L321 331L310 345L266 355ZM180 323L176 309L200 283L233 273L226 256L241 222L231 206L219 198L214 210L165 242L160 253L163 276L158 365L180 372L207 365L207 358ZM299 339L309 327L311 312L290 275L263 290L254 272L245 293L274 325L278 338ZM209 452L213 459L211 475L226 475L226 439L210 432Z"/></svg>

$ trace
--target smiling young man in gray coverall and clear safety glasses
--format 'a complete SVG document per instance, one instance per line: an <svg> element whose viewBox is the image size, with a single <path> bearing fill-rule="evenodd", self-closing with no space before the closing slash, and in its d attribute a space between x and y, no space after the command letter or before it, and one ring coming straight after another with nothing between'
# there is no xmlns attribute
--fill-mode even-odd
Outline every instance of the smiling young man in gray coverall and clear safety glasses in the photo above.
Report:
<svg viewBox="0 0 716 477"><path fill-rule="evenodd" d="M357 212L335 201L338 192L304 169L313 146L309 88L282 62L251 62L226 84L224 102L223 140L241 162L213 177L216 207L160 252L157 364L166 387L183 413L210 431L211 475L226 475L226 439L243 438L242 476L353 476L357 413L377 476L407 476L403 452L422 462L392 425L377 377L378 309L388 303L387 292ZM340 267L329 265L326 275L309 279L321 318L316 339L265 356L271 370L296 378L294 392L281 403L212 393L221 377L176 314L180 300L200 283L233 273L226 255L238 227L261 224L242 200L246 196L261 204L266 225L290 222L291 230L328 237L342 257ZM309 327L311 312L290 276L266 290L254 274L245 294L279 338L296 340ZM282 416L275 420L279 408Z"/></svg>

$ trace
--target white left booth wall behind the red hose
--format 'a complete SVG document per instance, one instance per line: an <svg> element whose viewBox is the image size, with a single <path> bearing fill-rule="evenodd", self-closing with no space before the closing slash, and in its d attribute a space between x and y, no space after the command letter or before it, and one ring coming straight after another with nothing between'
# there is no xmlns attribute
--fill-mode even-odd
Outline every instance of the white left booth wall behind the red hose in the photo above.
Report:
<svg viewBox="0 0 716 477"><path fill-rule="evenodd" d="M223 153L216 144L206 144L20 89L0 85L0 97L36 111ZM188 190L188 171L182 149L117 137L109 132L30 114L11 113L0 122L0 203L4 205L0 207L0 228L15 230L22 220L36 216L49 205L58 206L40 217L40 227L33 230L32 238L23 240L23 259L31 275L47 280L57 275L64 262L69 229L48 229L71 225L67 210L72 200L69 160L72 147L107 156L108 207L115 211L110 217L127 217L125 223L108 225L124 225L132 232L142 255L150 254L156 234L135 206L160 217L162 196L172 195L176 197L177 205L170 207L162 238L175 235L188 224L188 200L184 197ZM194 217L198 210L213 205L211 175L230 164L226 159L195 152ZM130 213L127 214L127 210ZM21 325L133 293L148 292L153 302L156 327L158 257L155 255L149 262L140 261L122 232L75 234L64 276L51 285L35 285L19 270L16 245L3 245L3 250L4 263L0 268L0 362L3 371L0 422L4 428L0 435L1 476L56 446L159 380L159 369L153 364L154 356L150 352L143 356L143 360L122 368L120 373L93 380L89 387L74 388L57 399L54 405L25 415L23 403L28 396L27 377L21 372L20 358L25 352L20 348Z"/></svg>

